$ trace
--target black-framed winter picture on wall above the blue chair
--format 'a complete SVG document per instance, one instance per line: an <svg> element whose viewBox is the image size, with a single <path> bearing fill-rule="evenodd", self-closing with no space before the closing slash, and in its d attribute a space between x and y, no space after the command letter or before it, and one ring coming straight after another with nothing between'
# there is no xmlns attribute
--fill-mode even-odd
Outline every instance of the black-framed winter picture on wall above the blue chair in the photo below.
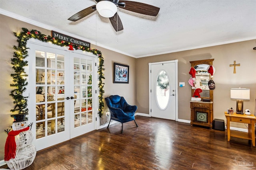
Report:
<svg viewBox="0 0 256 170"><path fill-rule="evenodd" d="M114 63L113 69L114 83L129 83L129 66L119 63Z"/></svg>

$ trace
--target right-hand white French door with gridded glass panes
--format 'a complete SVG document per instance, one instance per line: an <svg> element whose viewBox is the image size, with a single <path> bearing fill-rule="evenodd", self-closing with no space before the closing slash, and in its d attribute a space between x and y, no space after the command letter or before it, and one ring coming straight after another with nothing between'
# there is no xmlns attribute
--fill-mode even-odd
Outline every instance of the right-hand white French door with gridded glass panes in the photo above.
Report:
<svg viewBox="0 0 256 170"><path fill-rule="evenodd" d="M70 55L70 67L73 81L70 81L71 89L74 89L74 103L70 114L70 138L88 133L95 128L95 106L93 96L95 89L93 82L96 79L95 57L84 56L77 53ZM74 107L73 107L74 106Z"/></svg>

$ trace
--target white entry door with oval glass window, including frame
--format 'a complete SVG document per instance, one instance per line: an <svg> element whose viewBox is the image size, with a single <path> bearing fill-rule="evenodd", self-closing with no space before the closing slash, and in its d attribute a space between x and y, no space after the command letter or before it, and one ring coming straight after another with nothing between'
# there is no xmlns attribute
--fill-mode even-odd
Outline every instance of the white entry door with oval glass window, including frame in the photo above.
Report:
<svg viewBox="0 0 256 170"><path fill-rule="evenodd" d="M178 60L149 63L152 117L178 120Z"/></svg>

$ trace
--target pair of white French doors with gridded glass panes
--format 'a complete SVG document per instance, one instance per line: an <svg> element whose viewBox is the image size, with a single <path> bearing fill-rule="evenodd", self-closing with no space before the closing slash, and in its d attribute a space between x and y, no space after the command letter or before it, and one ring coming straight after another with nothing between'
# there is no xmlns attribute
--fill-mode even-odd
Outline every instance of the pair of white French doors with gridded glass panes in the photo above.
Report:
<svg viewBox="0 0 256 170"><path fill-rule="evenodd" d="M28 108L36 150L96 129L96 57L28 43Z"/></svg>

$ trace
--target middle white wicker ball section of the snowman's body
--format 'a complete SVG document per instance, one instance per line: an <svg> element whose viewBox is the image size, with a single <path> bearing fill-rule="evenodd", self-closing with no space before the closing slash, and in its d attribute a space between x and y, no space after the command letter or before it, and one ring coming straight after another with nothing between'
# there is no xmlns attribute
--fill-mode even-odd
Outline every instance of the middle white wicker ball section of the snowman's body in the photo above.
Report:
<svg viewBox="0 0 256 170"><path fill-rule="evenodd" d="M21 132L20 134L15 136L17 149L30 144L32 141L33 141L33 134L31 130Z"/></svg>

